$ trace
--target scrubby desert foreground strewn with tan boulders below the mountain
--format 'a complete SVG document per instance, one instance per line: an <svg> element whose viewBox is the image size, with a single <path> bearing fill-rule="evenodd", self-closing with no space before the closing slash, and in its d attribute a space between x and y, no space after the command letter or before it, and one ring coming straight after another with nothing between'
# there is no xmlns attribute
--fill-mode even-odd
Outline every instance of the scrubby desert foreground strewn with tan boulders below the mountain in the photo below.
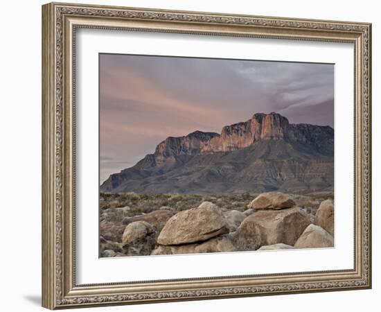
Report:
<svg viewBox="0 0 381 312"><path fill-rule="evenodd" d="M157 205L158 200L146 195L143 195L145 199L141 197L134 193L124 197L101 197L100 257L329 248L334 245L331 193L296 196L269 192L254 199L249 199L249 194L231 197L241 200L238 202L229 202L223 196L188 196L185 200L180 196L181 200L173 201L173 196L163 195L159 202L171 203L172 207L163 206L147 213L140 212L141 207L147 209L148 203ZM116 207L121 202L142 201L145 205L140 209L139 205L134 209ZM182 205L177 205L179 202ZM186 202L201 203L186 209ZM242 205L244 202L248 203Z"/></svg>

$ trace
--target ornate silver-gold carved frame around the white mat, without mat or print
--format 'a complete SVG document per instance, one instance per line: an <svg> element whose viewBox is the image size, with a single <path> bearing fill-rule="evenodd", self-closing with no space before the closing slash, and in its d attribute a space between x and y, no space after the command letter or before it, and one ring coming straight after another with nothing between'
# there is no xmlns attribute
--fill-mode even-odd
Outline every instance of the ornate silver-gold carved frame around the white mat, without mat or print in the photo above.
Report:
<svg viewBox="0 0 381 312"><path fill-rule="evenodd" d="M75 277L76 29L352 42L355 46L355 267L77 285ZM371 24L49 3L42 6L42 305L64 309L371 288Z"/></svg>

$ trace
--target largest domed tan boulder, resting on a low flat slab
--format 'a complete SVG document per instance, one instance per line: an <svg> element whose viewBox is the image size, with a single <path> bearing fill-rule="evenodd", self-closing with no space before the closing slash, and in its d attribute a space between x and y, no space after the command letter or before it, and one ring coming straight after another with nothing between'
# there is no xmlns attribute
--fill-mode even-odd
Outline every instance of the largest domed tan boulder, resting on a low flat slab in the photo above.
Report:
<svg viewBox="0 0 381 312"><path fill-rule="evenodd" d="M161 230L157 243L181 245L206 241L229 232L229 225L222 212L211 202L199 207L180 211L170 218Z"/></svg>

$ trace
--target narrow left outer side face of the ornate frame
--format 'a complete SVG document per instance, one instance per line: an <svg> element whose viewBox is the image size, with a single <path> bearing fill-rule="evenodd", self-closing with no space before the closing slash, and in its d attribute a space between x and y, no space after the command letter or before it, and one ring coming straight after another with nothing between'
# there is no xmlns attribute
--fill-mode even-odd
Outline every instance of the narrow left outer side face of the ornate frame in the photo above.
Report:
<svg viewBox="0 0 381 312"><path fill-rule="evenodd" d="M42 306L55 308L54 6L42 6Z"/></svg>

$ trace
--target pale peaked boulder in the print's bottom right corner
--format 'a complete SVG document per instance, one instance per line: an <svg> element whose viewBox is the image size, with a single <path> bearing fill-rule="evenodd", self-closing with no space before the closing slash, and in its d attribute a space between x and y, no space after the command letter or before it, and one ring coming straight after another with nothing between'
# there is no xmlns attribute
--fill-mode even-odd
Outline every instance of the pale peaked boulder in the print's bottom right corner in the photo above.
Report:
<svg viewBox="0 0 381 312"><path fill-rule="evenodd" d="M294 248L333 247L333 236L319 225L310 224L296 241Z"/></svg>

